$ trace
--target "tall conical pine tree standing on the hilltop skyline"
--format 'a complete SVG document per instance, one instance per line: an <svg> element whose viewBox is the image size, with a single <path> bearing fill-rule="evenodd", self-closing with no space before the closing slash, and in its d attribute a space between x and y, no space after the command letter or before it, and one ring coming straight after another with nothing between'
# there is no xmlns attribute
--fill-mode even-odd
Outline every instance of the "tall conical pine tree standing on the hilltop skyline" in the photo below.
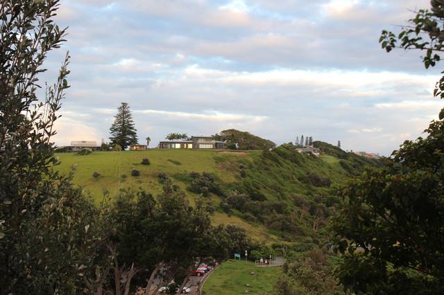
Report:
<svg viewBox="0 0 444 295"><path fill-rule="evenodd" d="M125 150L128 145L137 144L137 129L135 128L130 106L122 102L117 115L114 116L114 123L110 128L110 141L113 145L120 145Z"/></svg>

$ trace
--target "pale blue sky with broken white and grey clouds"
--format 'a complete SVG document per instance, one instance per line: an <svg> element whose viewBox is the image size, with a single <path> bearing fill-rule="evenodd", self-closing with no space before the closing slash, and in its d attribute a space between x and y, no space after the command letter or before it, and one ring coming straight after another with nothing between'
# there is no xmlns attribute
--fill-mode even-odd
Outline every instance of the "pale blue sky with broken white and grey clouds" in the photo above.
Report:
<svg viewBox="0 0 444 295"><path fill-rule="evenodd" d="M170 132L235 128L275 143L311 135L388 155L419 136L444 102L420 53L382 51L429 0L62 0L71 53L58 145L101 141L120 102L141 143Z"/></svg>

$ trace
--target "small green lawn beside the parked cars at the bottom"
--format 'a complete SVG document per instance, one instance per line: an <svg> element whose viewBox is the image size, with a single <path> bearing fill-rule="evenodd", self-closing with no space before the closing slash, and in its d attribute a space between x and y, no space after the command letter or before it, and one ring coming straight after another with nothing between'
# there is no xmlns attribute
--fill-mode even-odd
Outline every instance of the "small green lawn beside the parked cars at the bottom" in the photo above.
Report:
<svg viewBox="0 0 444 295"><path fill-rule="evenodd" d="M254 262L228 260L210 275L203 294L244 294L246 289L248 294L275 294L274 285L281 274L282 267L255 267Z"/></svg>

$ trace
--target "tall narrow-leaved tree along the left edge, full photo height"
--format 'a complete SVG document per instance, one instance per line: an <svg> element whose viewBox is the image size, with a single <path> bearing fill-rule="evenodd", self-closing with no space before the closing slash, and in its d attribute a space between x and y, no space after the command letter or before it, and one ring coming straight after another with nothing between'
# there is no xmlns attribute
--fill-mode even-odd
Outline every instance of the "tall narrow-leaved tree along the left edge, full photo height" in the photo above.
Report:
<svg viewBox="0 0 444 295"><path fill-rule="evenodd" d="M36 93L46 55L64 41L58 7L0 1L0 294L76 294L101 261L99 211L53 170L69 55L46 98Z"/></svg>

